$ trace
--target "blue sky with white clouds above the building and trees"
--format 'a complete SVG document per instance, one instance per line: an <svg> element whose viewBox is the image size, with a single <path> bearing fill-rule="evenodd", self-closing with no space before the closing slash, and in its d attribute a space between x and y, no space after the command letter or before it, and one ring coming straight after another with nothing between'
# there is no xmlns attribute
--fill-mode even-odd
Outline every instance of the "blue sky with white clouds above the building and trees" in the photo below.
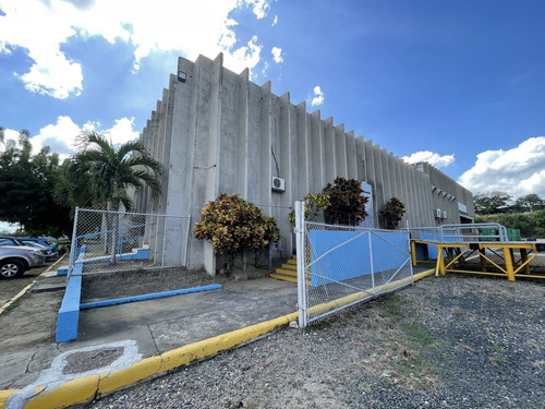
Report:
<svg viewBox="0 0 545 409"><path fill-rule="evenodd" d="M542 0L0 0L0 125L138 136L177 57L225 55L474 193L545 197ZM0 146L0 148L2 148Z"/></svg>

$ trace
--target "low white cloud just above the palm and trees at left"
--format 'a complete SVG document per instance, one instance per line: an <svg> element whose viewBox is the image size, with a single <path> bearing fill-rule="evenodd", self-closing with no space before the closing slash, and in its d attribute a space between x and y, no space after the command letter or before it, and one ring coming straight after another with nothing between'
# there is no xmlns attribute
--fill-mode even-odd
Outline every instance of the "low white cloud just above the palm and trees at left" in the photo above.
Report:
<svg viewBox="0 0 545 409"><path fill-rule="evenodd" d="M84 131L96 131L108 135L113 144L122 144L138 139L140 133L134 131L134 118L121 118L114 120L109 129L102 129L100 123L86 122L76 124L70 117L57 118L57 123L41 128L36 135L31 135L33 154L37 154L44 146L49 146L52 153L59 154L64 160L76 149L76 136ZM5 143L15 143L19 140L19 131L7 129L4 131ZM9 142L12 141L12 142Z"/></svg>

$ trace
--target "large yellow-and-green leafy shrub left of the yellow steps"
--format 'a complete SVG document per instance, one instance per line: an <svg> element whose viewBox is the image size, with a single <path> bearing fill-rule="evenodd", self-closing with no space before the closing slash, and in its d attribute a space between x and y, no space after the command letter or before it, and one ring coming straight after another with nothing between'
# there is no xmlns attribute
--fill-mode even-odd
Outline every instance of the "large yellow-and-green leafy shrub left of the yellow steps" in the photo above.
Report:
<svg viewBox="0 0 545 409"><path fill-rule="evenodd" d="M195 238L211 242L216 254L228 257L228 272L245 251L253 250L256 263L259 253L270 243L280 240L274 217L265 216L254 204L238 194L220 193L216 201L208 202L195 224Z"/></svg>

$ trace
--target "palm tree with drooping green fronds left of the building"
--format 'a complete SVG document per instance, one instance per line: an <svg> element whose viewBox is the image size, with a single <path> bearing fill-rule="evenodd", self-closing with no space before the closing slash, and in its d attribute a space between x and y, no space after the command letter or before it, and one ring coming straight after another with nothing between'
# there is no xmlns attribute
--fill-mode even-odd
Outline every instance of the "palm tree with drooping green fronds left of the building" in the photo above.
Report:
<svg viewBox="0 0 545 409"><path fill-rule="evenodd" d="M161 192L162 165L155 160L140 142L126 142L114 146L107 137L97 132L85 132L78 136L80 149L72 156L69 171L80 182L85 183L74 197L85 202L106 205L112 212L120 206L128 210L133 207L128 188L141 190L149 188L155 199ZM109 219L109 217L108 217ZM108 220L109 221L109 220ZM116 234L119 218L114 215L112 226L111 261L116 261Z"/></svg>

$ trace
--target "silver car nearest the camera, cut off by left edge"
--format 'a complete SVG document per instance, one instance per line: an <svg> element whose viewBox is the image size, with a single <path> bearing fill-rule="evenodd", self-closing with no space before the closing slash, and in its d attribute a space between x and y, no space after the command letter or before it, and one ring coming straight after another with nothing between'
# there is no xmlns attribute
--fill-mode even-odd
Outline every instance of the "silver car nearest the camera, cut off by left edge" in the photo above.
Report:
<svg viewBox="0 0 545 409"><path fill-rule="evenodd" d="M28 245L0 245L0 278L21 277L27 269L43 266L41 250Z"/></svg>

